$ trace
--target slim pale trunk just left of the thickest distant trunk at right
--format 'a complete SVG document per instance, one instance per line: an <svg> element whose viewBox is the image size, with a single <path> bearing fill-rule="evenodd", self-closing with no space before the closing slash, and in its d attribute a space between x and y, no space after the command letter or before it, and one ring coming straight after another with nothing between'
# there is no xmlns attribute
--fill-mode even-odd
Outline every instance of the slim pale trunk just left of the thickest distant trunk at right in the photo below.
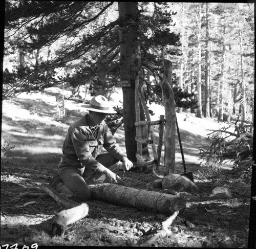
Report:
<svg viewBox="0 0 256 249"><path fill-rule="evenodd" d="M202 88L201 88L201 6L198 7L198 78L197 78L197 118L202 118Z"/></svg>

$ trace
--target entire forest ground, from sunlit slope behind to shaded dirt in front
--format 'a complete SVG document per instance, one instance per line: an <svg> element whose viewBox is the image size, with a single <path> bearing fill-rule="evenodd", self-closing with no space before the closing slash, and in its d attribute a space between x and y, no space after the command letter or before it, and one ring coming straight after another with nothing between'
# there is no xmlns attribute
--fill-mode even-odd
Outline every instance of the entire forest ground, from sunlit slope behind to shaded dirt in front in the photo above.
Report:
<svg viewBox="0 0 256 249"><path fill-rule="evenodd" d="M61 237L52 237L51 225L61 207L51 197L24 197L19 193L41 192L57 172L62 142L69 125L84 115L75 101L66 105L66 122L56 119L56 103L52 88L44 94L20 95L3 102L2 138L15 146L1 162L1 245L80 245L139 246L160 229L168 216L148 210L138 210L114 203L89 200L87 217L70 224ZM162 107L152 106L157 120ZM193 172L198 192L180 192L187 207L170 225L172 234L155 241L162 247L233 247L247 248L250 212L250 184L231 177L232 164L212 169L200 159L200 148L208 142L207 129L224 123L212 119L197 119L188 113L177 114L187 171ZM154 128L158 139L157 127ZM124 131L115 134L125 150ZM162 153L163 158L163 153ZM138 171L116 170L123 185L148 191L148 183L163 177L160 167L156 175ZM176 145L176 170L183 171L179 143ZM89 184L93 184L90 183ZM118 183L119 184L119 183ZM212 189L227 185L232 197L212 199ZM14 198L14 199L13 199ZM33 201L33 202L31 202ZM22 207L24 203L31 205Z"/></svg>

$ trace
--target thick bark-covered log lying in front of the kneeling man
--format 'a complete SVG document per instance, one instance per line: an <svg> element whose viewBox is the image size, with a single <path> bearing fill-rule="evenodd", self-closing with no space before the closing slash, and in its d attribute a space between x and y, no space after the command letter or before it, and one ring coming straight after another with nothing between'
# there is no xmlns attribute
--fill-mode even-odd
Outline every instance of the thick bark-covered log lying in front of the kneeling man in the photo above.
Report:
<svg viewBox="0 0 256 249"><path fill-rule="evenodd" d="M154 191L139 190L115 184L90 185L91 198L113 202L118 205L146 209L167 215L175 211L182 212L186 200L176 195Z"/></svg>

